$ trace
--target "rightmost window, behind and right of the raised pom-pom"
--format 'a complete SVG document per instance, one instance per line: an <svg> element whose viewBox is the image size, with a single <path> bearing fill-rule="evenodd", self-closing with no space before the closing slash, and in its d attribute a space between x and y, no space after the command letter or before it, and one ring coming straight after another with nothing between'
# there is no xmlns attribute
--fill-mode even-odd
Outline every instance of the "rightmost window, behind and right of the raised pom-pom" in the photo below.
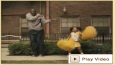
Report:
<svg viewBox="0 0 115 65"><path fill-rule="evenodd" d="M110 16L92 16L92 25L98 33L110 33Z"/></svg>

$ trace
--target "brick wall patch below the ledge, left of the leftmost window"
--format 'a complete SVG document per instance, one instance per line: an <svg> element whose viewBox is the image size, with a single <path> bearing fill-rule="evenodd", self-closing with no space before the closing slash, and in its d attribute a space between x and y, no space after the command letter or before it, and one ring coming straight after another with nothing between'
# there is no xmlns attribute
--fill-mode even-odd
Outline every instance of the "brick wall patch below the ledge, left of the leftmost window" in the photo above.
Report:
<svg viewBox="0 0 115 65"><path fill-rule="evenodd" d="M19 16L2 16L2 33L19 33Z"/></svg>

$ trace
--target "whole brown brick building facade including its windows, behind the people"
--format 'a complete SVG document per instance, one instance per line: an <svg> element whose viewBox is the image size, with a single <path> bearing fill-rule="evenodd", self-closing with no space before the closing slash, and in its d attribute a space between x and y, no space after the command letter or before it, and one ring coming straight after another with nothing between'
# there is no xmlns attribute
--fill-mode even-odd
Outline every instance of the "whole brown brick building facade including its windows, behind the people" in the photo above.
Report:
<svg viewBox="0 0 115 65"><path fill-rule="evenodd" d="M112 33L112 1L50 1L48 3L2 1L1 3L2 34L26 34L28 28L25 15L31 8L36 9L46 18L47 16L57 18L57 21L44 26L46 33L69 33L69 28L74 26L82 29L86 26L94 26L99 33Z"/></svg>

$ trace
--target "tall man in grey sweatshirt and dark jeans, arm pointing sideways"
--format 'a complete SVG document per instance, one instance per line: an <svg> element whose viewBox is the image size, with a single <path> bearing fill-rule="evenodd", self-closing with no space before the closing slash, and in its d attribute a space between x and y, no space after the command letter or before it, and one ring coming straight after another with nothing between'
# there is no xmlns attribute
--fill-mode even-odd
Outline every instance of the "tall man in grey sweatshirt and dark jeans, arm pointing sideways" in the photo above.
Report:
<svg viewBox="0 0 115 65"><path fill-rule="evenodd" d="M35 9L31 9L30 13L26 14L28 21L29 37L32 47L32 56L44 56L44 30L43 24L49 23L53 19L46 20L44 16L37 14Z"/></svg>

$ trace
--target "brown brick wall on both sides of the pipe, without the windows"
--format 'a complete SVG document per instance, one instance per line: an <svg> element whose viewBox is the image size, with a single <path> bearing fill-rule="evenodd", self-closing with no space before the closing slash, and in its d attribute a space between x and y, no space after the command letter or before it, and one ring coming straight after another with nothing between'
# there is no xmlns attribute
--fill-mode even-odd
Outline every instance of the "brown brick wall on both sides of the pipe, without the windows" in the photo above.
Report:
<svg viewBox="0 0 115 65"><path fill-rule="evenodd" d="M63 7L67 9L67 15L63 14ZM31 8L39 12L39 2L2 1L2 33L20 33L20 17L25 16ZM91 25L91 15L111 15L111 1L50 1L50 18L58 21L50 23L50 33L60 32L60 16L80 16L80 25L84 29ZM45 15L45 3L42 11ZM112 21L111 21L112 22ZM111 24L112 25L112 24Z"/></svg>

